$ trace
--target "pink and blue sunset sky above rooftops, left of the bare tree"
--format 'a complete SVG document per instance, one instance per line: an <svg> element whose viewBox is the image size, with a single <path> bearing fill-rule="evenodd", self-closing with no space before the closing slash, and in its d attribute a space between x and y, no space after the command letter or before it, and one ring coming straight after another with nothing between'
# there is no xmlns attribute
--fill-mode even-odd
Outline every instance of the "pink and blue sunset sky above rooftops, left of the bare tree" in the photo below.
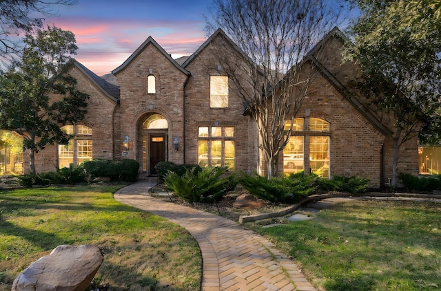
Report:
<svg viewBox="0 0 441 291"><path fill-rule="evenodd" d="M192 54L205 41L210 0L78 0L55 6L45 25L70 30L76 60L99 76L121 65L148 36L173 58Z"/></svg>

